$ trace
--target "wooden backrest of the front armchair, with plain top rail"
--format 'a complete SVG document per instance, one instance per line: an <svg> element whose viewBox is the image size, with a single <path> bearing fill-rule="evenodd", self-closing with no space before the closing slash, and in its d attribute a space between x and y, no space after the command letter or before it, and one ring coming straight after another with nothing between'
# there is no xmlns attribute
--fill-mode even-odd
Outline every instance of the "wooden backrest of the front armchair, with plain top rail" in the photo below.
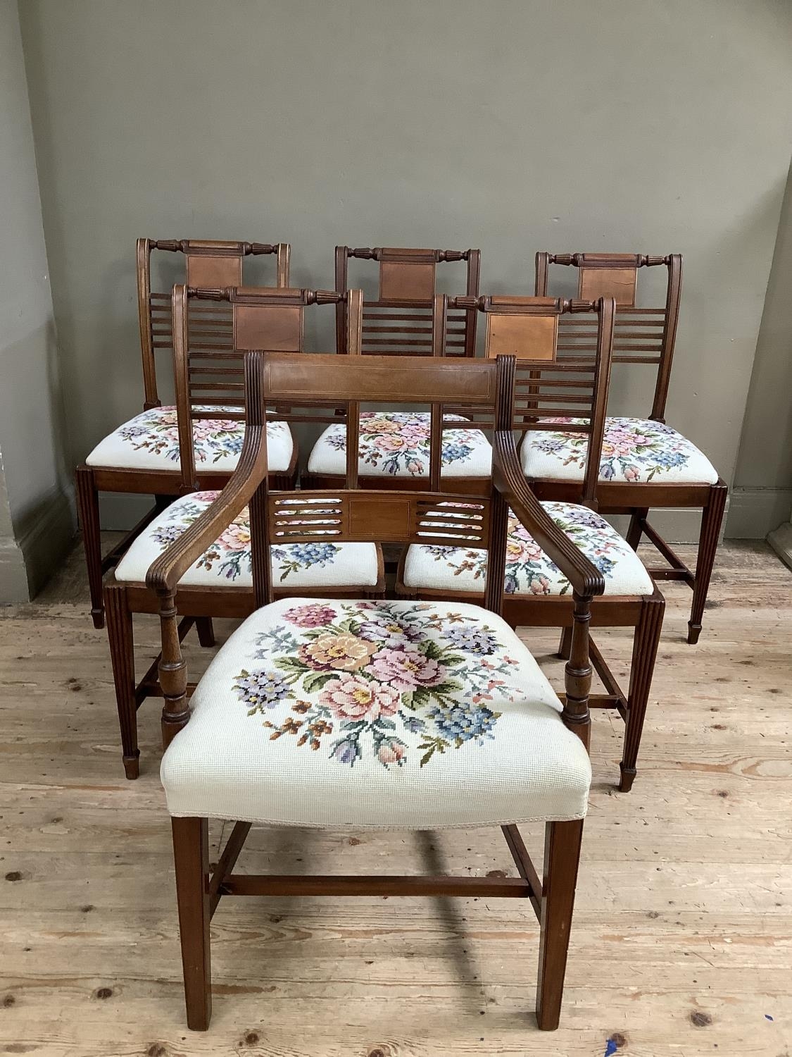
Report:
<svg viewBox="0 0 792 1057"><path fill-rule="evenodd" d="M506 562L506 505L490 482L487 495L460 495L454 479L440 472L444 429L465 423L445 422L448 406L472 416L487 413L495 429L510 430L514 357L473 359L406 357L394 378L393 360L306 353L250 352L245 357L248 428L266 437L268 410L279 405L346 408L346 474L342 487L269 492L264 474L250 504L257 600L271 600L269 562L261 558L271 544L319 541L436 543L487 548L487 605L499 612ZM358 485L360 405L406 409L429 405L432 419L429 492ZM470 428L479 428L472 422ZM259 558L256 558L257 549ZM497 570L499 568L499 575Z"/></svg>

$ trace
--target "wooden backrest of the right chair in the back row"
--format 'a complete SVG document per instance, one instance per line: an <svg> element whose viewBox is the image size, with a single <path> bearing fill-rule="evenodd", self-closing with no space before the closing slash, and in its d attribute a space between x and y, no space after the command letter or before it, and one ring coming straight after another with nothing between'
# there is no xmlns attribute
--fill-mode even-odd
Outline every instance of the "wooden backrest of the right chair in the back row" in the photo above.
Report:
<svg viewBox="0 0 792 1057"><path fill-rule="evenodd" d="M578 268L579 297L616 299L614 363L646 364L657 369L650 418L664 422L682 292L682 255L540 253L536 254L538 296L547 294L550 264ZM660 266L667 271L664 307L639 308L636 305L639 268ZM579 320L565 320L560 342L560 348L565 350L590 353L593 327L581 326Z"/></svg>

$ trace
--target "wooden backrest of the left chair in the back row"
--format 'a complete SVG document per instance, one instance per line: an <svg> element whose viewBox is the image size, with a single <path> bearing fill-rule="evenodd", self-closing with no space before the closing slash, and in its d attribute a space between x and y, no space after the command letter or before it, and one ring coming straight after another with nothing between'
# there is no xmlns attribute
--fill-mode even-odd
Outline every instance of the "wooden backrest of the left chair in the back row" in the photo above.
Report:
<svg viewBox="0 0 792 1057"><path fill-rule="evenodd" d="M154 252L182 254L184 272L181 281L192 286L242 285L242 261L245 257L272 255L276 258L276 285L288 286L290 247L287 242L221 242L200 239L138 239L136 246L137 315L140 324L140 351L145 388L144 408L159 407L156 384L156 350L173 350L171 326L171 283L168 291L151 289L151 255ZM203 331L227 332L228 313L197 309L192 320L195 341Z"/></svg>

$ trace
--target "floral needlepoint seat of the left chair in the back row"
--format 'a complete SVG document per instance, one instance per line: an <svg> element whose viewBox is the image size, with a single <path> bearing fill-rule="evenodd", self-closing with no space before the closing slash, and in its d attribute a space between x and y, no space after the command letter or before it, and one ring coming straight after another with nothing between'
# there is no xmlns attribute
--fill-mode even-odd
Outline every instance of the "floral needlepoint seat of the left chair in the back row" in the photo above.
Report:
<svg viewBox="0 0 792 1057"><path fill-rule="evenodd" d="M196 407L199 411L238 411L239 408ZM197 419L192 423L195 465L199 469L231 471L242 451L245 424L238 419ZM267 426L270 472L288 469L294 451L285 422ZM178 424L175 407L153 407L136 414L100 441L86 460L89 466L119 469L178 469Z"/></svg>

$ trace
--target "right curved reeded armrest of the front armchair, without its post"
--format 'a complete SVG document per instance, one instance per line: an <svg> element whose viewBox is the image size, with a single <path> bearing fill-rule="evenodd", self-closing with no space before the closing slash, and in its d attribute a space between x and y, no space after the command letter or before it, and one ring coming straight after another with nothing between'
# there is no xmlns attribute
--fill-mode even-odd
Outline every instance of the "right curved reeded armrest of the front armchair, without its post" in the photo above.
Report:
<svg viewBox="0 0 792 1057"><path fill-rule="evenodd" d="M514 438L507 430L496 430L492 453L492 479L515 517L536 540L583 597L601 595L605 578L600 570L555 524L525 480L517 459Z"/></svg>

